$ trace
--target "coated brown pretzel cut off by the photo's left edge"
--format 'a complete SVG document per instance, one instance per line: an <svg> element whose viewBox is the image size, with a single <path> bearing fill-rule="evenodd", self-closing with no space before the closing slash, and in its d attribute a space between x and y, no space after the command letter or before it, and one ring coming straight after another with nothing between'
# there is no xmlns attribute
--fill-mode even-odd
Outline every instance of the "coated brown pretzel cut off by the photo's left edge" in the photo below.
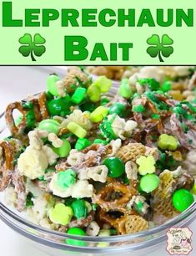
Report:
<svg viewBox="0 0 196 256"><path fill-rule="evenodd" d="M2 179L0 179L0 191L6 189L12 180L13 173L13 146L8 141L1 141L0 146L3 148L5 163L0 166L2 172Z"/></svg>

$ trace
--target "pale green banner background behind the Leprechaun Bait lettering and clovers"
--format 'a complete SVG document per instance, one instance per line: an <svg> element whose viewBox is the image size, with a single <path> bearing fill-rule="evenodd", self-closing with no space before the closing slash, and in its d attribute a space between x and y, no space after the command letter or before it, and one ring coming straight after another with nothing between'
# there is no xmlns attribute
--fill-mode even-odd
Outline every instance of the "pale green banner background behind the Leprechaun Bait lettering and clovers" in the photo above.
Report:
<svg viewBox="0 0 196 256"><path fill-rule="evenodd" d="M62 28L60 18L57 21L51 22L49 28L3 28L2 26L2 2L0 10L0 64L196 64L196 30L195 25L188 28L183 25L182 28L176 28L175 23L168 28L148 28L144 25L142 28L118 28L114 25L110 28ZM150 8L153 17L156 17L157 8L187 8L194 9L194 24L196 19L196 1L195 0L13 0L13 18L24 19L25 8L135 8L136 13L140 13L142 8ZM175 13L175 12L174 12ZM136 14L137 16L137 14ZM41 21L40 15L40 21ZM174 19L175 20L175 19ZM24 58L18 52L21 46L18 43L18 38L24 33L40 33L46 39L46 53L40 58L36 58L36 62L32 62L30 57ZM162 36L167 33L170 38L173 38L173 54L169 58L164 58L165 62L160 63L158 58L151 58L146 49L146 43L153 33ZM133 49L130 49L130 60L122 61L121 54L118 61L97 61L90 62L89 59L80 62L65 62L64 61L64 36L65 35L82 35L88 38L88 50L92 53L95 43L103 43L105 49L109 53L109 43L133 43ZM90 54L88 57L90 57Z"/></svg>

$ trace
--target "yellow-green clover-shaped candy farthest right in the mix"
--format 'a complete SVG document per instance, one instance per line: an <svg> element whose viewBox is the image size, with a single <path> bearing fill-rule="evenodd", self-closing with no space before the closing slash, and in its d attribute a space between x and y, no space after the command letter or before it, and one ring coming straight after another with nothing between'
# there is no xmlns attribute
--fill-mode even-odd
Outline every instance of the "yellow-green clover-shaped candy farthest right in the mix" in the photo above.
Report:
<svg viewBox="0 0 196 256"><path fill-rule="evenodd" d="M158 138L158 147L162 150L175 151L178 147L178 141L174 136L162 134Z"/></svg>

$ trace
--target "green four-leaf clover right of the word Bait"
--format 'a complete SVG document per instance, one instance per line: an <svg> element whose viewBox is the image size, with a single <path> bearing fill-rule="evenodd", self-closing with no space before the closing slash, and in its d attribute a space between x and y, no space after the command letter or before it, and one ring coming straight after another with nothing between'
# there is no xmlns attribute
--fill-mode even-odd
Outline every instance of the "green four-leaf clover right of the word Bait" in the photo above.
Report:
<svg viewBox="0 0 196 256"><path fill-rule="evenodd" d="M158 56L160 62L164 62L163 57L168 58L171 54L173 54L173 47L169 46L173 44L173 39L169 38L167 34L163 34L162 39L160 40L158 34L153 34L150 38L147 39L147 44L151 45L146 50L147 53L155 58Z"/></svg>

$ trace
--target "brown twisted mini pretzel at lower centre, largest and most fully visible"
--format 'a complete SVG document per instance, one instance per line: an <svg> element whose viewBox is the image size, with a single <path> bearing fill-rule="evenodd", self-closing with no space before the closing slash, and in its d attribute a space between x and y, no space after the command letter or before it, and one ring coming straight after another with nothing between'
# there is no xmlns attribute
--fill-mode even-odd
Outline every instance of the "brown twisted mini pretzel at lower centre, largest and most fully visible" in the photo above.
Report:
<svg viewBox="0 0 196 256"><path fill-rule="evenodd" d="M119 211L127 213L126 205L130 199L136 195L136 182L132 182L131 185L124 185L120 182L110 182L108 185L103 187L98 194L95 196L94 200L104 211L108 212ZM107 201L106 197L112 192L120 192L123 194L122 197L115 199L113 201Z"/></svg>

